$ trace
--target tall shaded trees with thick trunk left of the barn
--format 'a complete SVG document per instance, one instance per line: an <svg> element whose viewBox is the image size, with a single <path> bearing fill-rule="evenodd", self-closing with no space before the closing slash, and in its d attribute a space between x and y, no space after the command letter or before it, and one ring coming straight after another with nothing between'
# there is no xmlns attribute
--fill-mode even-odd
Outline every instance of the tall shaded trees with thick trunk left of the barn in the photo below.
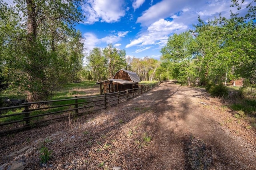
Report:
<svg viewBox="0 0 256 170"><path fill-rule="evenodd" d="M44 100L79 78L84 43L74 25L84 18L82 1L13 2L0 0L1 88Z"/></svg>

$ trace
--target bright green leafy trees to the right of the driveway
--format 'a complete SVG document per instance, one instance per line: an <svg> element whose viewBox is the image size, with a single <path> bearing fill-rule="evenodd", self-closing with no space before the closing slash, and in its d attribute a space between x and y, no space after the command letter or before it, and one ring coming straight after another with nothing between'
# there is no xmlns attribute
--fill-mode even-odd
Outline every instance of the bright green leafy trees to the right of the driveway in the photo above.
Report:
<svg viewBox="0 0 256 170"><path fill-rule="evenodd" d="M222 17L205 22L198 17L194 30L169 37L161 49L161 67L168 78L181 84L223 84L244 78L256 83L256 6L247 4L245 16L239 14L243 3L230 19Z"/></svg>

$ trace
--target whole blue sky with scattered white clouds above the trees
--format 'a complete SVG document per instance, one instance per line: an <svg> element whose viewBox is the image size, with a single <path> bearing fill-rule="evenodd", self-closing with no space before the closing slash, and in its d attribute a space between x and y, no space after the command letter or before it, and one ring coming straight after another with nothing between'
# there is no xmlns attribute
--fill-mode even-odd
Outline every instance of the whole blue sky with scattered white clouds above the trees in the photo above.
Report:
<svg viewBox="0 0 256 170"><path fill-rule="evenodd" d="M193 29L198 16L205 21L218 17L219 13L229 18L231 3L231 0L84 0L82 10L86 18L76 29L85 38L86 53L112 43L125 49L127 56L159 59L160 49L170 35Z"/></svg>

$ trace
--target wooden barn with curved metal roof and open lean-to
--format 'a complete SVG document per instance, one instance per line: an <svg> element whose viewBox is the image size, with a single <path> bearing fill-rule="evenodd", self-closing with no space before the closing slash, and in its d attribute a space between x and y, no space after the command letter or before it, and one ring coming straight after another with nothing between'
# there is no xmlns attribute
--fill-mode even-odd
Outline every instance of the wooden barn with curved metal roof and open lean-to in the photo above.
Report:
<svg viewBox="0 0 256 170"><path fill-rule="evenodd" d="M116 72L112 79L97 82L96 84L100 84L100 95L102 95L106 93L138 88L139 82L140 78L135 72L121 69Z"/></svg>

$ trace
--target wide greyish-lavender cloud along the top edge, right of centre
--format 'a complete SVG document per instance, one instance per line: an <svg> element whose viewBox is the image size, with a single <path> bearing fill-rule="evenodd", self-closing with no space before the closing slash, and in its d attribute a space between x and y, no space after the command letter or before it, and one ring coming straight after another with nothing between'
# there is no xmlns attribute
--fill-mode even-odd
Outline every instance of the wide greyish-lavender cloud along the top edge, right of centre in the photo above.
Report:
<svg viewBox="0 0 256 170"><path fill-rule="evenodd" d="M225 17L230 16L231 3L230 0L197 0L196 3L191 0L162 0L145 10L142 16L137 18L136 23L149 26L161 18L171 17L177 23L183 22L190 25L197 22L198 14L202 15L203 20L218 16L220 12Z"/></svg>

